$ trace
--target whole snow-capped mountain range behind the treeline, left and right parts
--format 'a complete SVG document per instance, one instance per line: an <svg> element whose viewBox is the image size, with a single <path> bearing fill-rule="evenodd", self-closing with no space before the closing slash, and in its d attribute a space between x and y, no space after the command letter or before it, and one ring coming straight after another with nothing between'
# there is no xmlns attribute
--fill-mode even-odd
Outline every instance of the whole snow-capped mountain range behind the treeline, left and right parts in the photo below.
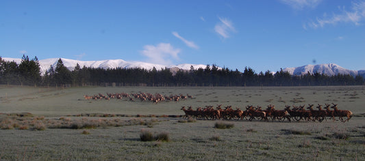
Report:
<svg viewBox="0 0 365 161"><path fill-rule="evenodd" d="M20 64L21 59L16 58L2 58L5 61L15 61L16 63ZM42 59L39 60L40 63L40 72L41 74L45 74L51 66L55 69L58 59L60 58L51 58L51 59ZM68 70L73 70L77 63L79 63L80 67L88 67L88 68L144 68L146 70L152 70L155 67L157 70L162 68L168 68L175 74L177 70L190 70L192 66L194 69L199 68L206 68L206 65L202 64L190 64L190 63L183 63L179 65L161 65L155 63L145 63L142 61L124 61L123 59L110 59L110 60L102 60L102 61L79 61L73 59L64 59L61 58L64 66L68 68ZM325 64L318 64L318 65L303 65L300 67L292 67L292 68L284 68L284 72L289 72L292 75L302 75L307 74L310 72L311 74L314 72L318 72L319 74L326 74L328 76L333 76L337 74L350 74L351 76L360 75L365 78L365 70L348 70L345 68L340 67L335 63L325 63Z"/></svg>

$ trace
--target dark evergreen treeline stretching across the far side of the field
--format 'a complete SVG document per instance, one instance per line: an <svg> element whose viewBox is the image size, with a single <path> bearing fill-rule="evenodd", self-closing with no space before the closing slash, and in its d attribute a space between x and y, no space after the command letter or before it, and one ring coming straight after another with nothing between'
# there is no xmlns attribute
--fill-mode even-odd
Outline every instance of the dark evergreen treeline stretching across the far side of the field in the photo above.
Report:
<svg viewBox="0 0 365 161"><path fill-rule="evenodd" d="M0 57L0 84L34 85L34 86L327 86L327 85L364 85L360 75L338 74L327 76L319 73L307 73L292 76L284 70L275 73L266 71L259 74L251 68L244 72L218 68L217 65L207 65L205 69L177 70L170 69L145 70L141 68L81 68L79 64L73 70L68 70L62 59L55 68L51 66L44 75L40 74L37 57L30 59L23 55L20 64L14 61L4 61Z"/></svg>

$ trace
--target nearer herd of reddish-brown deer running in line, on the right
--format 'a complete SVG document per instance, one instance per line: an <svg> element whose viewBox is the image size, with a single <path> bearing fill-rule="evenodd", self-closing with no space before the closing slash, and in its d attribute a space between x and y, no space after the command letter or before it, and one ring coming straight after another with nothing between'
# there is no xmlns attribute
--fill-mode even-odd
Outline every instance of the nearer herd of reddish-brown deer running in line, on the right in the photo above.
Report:
<svg viewBox="0 0 365 161"><path fill-rule="evenodd" d="M333 104L333 103L332 103ZM332 119L335 121L336 117L340 119L340 121L345 122L351 119L353 113L347 110L338 110L337 104L325 104L325 110L322 109L322 105L318 104L316 108L318 110L314 110L314 104L308 104L307 109L305 109L305 105L303 106L294 106L290 109L290 106L286 106L284 110L276 110L274 105L268 105L266 110L263 110L261 106L247 106L245 111L240 110L240 108L236 108L236 110L232 109L231 106L226 106L225 109L221 108L222 105L216 106L214 109L213 106L205 106L205 108L198 107L197 110L193 110L192 106L188 106L186 109L185 106L181 108L184 111L185 118L192 117L194 119L247 119L252 121L253 119L260 119L264 121L284 121L287 119L288 121L296 120L296 121L323 121L328 119ZM331 110L330 108L333 108ZM343 117L347 117L344 119Z"/></svg>

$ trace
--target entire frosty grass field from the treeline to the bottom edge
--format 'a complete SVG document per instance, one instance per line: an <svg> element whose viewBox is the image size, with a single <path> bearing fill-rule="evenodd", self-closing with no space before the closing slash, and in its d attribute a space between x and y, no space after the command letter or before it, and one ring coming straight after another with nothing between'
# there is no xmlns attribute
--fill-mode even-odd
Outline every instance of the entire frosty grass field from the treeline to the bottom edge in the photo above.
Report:
<svg viewBox="0 0 365 161"><path fill-rule="evenodd" d="M189 93L179 102L85 100L97 93ZM182 121L181 106L338 104L349 122ZM0 160L365 160L364 87L0 87ZM215 123L233 128L214 128ZM12 128L7 128L8 123ZM23 129L23 124L29 127ZM6 130L5 130L6 129ZM140 141L141 131L170 141Z"/></svg>

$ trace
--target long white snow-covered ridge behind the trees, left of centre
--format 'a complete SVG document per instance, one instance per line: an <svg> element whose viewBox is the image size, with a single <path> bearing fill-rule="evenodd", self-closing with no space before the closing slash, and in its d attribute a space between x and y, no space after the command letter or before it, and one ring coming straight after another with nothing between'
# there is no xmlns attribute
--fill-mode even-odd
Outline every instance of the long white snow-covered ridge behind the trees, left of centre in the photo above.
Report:
<svg viewBox="0 0 365 161"><path fill-rule="evenodd" d="M22 59L17 58L2 58L5 61L15 61L16 63L20 64ZM40 64L40 72L41 74L45 74L51 66L53 69L55 69L58 59L60 58L51 58L51 59L43 59L39 60ZM162 68L169 68L173 69L172 72L177 72L178 69L181 70L190 70L190 67L193 66L194 69L199 68L205 68L206 65L201 64L179 64L179 65L161 65L161 64L155 64L155 63L145 63L142 61L124 61L123 59L112 59L112 60L102 60L102 61L79 61L79 60L73 60L73 59L64 59L61 58L62 62L64 63L64 66L68 68L68 70L74 70L77 63L79 63L80 67L83 68L84 66L88 68L143 68L146 70L152 70L153 67L155 67L157 70L161 70Z"/></svg>

